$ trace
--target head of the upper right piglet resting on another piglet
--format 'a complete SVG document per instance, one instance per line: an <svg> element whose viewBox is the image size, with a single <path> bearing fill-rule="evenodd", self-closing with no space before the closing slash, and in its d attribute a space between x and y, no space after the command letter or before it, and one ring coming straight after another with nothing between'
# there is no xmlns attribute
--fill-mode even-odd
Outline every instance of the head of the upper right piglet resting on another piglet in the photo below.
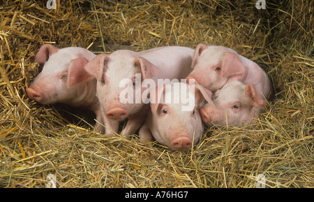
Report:
<svg viewBox="0 0 314 202"><path fill-rule="evenodd" d="M186 80L195 79L198 84L211 91L220 89L228 79L246 71L233 50L202 43L195 49L192 68L193 71Z"/></svg>

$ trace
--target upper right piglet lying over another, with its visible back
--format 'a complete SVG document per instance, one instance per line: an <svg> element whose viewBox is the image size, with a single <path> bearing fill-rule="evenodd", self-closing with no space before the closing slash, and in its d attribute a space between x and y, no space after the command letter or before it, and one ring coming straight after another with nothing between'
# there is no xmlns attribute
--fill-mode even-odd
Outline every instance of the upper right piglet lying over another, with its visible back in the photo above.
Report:
<svg viewBox="0 0 314 202"><path fill-rule="evenodd" d="M186 79L195 79L211 92L239 80L244 84L251 83L266 100L271 94L271 82L262 68L230 48L200 43L193 55L192 68Z"/></svg>

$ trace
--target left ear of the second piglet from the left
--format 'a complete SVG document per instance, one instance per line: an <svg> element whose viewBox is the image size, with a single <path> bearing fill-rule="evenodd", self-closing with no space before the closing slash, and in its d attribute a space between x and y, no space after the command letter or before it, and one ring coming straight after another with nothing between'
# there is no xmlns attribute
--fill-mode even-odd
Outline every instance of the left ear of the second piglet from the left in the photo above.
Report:
<svg viewBox="0 0 314 202"><path fill-rule="evenodd" d="M103 73L107 70L107 62L109 60L109 55L101 54L84 66L84 69L92 75L94 78L101 80L103 78Z"/></svg>

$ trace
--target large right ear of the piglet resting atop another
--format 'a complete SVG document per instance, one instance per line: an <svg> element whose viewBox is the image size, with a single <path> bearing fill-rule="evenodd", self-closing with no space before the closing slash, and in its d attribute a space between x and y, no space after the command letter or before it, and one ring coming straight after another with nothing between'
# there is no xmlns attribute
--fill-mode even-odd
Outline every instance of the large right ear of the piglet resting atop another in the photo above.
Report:
<svg viewBox="0 0 314 202"><path fill-rule="evenodd" d="M222 77L244 73L246 68L234 52L225 52L222 66Z"/></svg>

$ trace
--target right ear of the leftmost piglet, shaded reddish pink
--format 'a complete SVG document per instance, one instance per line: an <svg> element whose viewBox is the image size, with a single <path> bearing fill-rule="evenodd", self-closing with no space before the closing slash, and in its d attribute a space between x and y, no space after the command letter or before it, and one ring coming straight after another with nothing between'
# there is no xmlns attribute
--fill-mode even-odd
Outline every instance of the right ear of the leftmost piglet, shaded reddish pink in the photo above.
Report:
<svg viewBox="0 0 314 202"><path fill-rule="evenodd" d="M89 61L84 57L72 59L70 62L70 68L68 69L68 87L73 87L79 82L86 82L94 78L85 71L84 66Z"/></svg>

